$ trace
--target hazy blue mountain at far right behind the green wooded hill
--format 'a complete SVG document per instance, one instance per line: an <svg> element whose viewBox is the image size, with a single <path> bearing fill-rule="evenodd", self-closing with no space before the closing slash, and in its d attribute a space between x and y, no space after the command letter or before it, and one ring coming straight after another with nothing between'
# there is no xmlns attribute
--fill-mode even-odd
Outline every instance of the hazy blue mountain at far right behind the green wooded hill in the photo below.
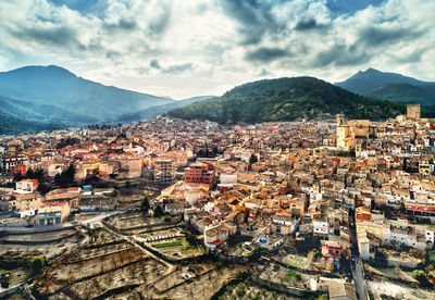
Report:
<svg viewBox="0 0 435 300"><path fill-rule="evenodd" d="M435 83L422 82L401 74L368 68L335 85L356 93L393 102L420 103L426 109L435 105Z"/></svg>

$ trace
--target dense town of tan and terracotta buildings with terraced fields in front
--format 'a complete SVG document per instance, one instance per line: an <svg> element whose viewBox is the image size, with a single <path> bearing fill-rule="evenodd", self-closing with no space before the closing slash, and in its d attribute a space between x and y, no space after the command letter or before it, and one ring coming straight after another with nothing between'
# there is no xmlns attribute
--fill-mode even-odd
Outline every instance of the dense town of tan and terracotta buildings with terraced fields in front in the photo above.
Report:
<svg viewBox="0 0 435 300"><path fill-rule="evenodd" d="M434 299L434 147L420 104L0 137L1 297Z"/></svg>

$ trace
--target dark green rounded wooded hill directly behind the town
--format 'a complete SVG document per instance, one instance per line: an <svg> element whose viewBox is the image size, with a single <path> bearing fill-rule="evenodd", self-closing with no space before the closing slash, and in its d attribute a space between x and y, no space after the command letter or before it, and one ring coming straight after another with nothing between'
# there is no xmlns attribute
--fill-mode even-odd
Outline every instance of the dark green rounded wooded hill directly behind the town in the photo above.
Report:
<svg viewBox="0 0 435 300"><path fill-rule="evenodd" d="M181 118L219 123L254 123L332 117L384 120L405 112L405 107L355 95L313 77L265 79L245 84L222 97L167 112Z"/></svg>

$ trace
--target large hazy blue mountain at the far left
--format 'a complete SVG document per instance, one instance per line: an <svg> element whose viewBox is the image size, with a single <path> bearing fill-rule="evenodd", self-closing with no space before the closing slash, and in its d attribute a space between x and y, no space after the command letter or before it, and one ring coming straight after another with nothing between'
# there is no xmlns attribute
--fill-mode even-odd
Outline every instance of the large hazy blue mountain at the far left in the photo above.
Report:
<svg viewBox="0 0 435 300"><path fill-rule="evenodd" d="M174 102L169 98L104 86L55 66L25 66L0 73L0 95L33 104L55 105L99 121Z"/></svg>

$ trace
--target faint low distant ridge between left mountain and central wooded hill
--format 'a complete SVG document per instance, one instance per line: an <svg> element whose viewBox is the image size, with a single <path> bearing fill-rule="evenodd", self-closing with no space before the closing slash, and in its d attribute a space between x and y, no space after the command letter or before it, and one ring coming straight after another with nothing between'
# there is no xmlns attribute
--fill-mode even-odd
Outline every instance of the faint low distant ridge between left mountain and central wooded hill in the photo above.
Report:
<svg viewBox="0 0 435 300"><path fill-rule="evenodd" d="M156 117L158 115L162 115L171 110L174 110L177 108L183 108L188 104L203 101L203 100L207 100L207 99L210 99L213 97L214 96L198 96L198 97L194 97L194 98L188 98L188 99L171 102L171 103L163 104L163 105L148 108L148 109L138 111L136 113L123 114L119 118L116 118L116 122L132 123L132 122L137 122L140 120L153 118L153 117Z"/></svg>

